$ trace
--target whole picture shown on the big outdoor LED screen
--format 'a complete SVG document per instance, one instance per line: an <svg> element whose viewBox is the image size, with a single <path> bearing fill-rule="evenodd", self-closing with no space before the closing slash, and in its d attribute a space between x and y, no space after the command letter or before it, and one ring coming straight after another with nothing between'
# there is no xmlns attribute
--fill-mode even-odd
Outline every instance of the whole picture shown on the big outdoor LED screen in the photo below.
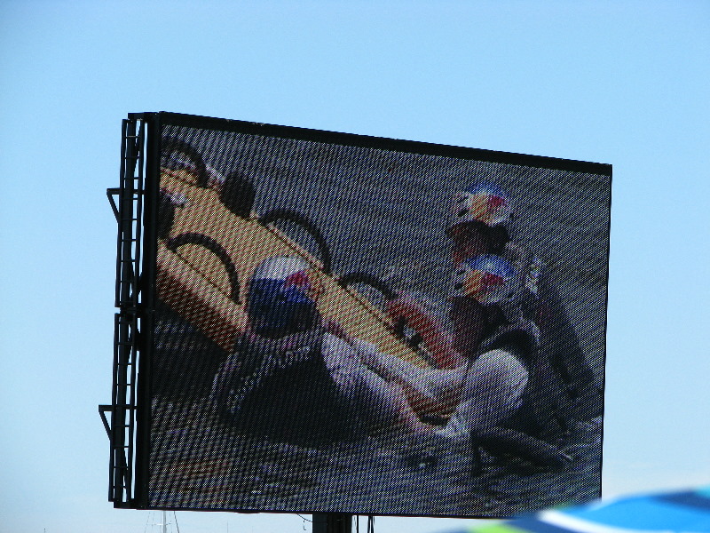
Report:
<svg viewBox="0 0 710 533"><path fill-rule="evenodd" d="M599 496L608 173L160 134L147 505Z"/></svg>

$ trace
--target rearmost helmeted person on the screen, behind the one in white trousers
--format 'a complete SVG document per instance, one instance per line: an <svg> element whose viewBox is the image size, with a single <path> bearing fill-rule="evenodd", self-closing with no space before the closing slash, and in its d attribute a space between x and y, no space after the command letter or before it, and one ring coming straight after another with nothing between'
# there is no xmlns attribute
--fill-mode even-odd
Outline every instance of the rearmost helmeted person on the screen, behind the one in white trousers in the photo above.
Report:
<svg viewBox="0 0 710 533"><path fill-rule="evenodd" d="M498 254L520 273L516 290L498 302L483 302L483 338L502 330L525 332L525 349L517 349L531 385L525 391L523 407L508 426L525 433L554 440L564 434L569 421L564 417L589 419L599 413L601 397L594 394L594 376L581 353L572 326L565 320L554 290L540 275L542 264L524 246L511 241L509 196L495 184L478 182L454 195L453 220L446 229L452 240L454 267L461 276L468 263L482 254ZM406 294L390 301L388 312L397 322L404 320L417 331L439 368L454 369L467 364L454 348L451 335L416 298ZM454 314L457 322L476 322L477 313Z"/></svg>

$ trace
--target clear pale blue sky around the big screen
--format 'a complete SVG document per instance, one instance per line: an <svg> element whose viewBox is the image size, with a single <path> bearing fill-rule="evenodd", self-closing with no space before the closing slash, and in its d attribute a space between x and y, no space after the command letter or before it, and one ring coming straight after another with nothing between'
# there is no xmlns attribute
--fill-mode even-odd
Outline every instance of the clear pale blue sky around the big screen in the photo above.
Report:
<svg viewBox="0 0 710 533"><path fill-rule="evenodd" d="M122 118L159 110L613 164L604 493L710 482L710 3L0 0L0 532L157 522L106 501L97 405L105 191Z"/></svg>

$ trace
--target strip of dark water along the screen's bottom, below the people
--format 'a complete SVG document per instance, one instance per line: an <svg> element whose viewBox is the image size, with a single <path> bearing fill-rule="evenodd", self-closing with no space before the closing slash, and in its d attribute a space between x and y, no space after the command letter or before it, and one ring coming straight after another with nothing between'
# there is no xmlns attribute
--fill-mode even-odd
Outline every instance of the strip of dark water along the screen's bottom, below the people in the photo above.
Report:
<svg viewBox="0 0 710 533"><path fill-rule="evenodd" d="M154 402L151 505L284 512L508 516L597 497L600 419L566 438L561 470L431 443L427 462L408 442L367 437L309 448L235 432L202 402ZM422 442L422 446L426 446Z"/></svg>

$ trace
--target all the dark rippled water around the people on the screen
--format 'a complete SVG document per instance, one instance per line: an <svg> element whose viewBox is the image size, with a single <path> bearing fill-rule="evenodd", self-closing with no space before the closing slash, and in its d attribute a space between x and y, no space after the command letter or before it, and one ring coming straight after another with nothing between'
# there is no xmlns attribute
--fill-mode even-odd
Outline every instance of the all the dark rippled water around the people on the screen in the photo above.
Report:
<svg viewBox="0 0 710 533"><path fill-rule="evenodd" d="M256 150L259 139L233 133L227 137L233 144L225 149L217 149L217 138L204 132L193 137L193 144L219 171L239 170L254 180L256 211L288 208L306 214L326 236L336 274L377 274L434 306L446 306L451 290L444 236L450 198L476 179L499 183L515 203L514 238L545 262L572 341L579 342L596 386L602 388L606 178L288 139L269 141L271 151L264 155ZM293 235L316 252L308 235L297 229ZM186 324L175 327L189 329ZM193 366L200 369L193 371L201 373L196 378L201 386L154 398L150 505L506 516L598 496L601 418L575 424L556 442L572 457L561 470L535 471L524 461L493 457L484 450L482 470L472 474L472 449L466 441L413 446L381 435L309 447L236 430L217 419L205 401L224 354L200 341L171 353L181 360L212 363Z"/></svg>

